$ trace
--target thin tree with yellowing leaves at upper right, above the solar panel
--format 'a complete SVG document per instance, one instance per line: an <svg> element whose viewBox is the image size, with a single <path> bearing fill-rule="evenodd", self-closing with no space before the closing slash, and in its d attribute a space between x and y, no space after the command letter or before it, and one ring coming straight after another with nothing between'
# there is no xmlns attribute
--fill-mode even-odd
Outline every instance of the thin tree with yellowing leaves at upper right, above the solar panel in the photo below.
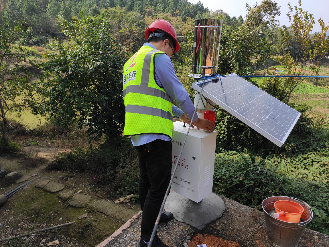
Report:
<svg viewBox="0 0 329 247"><path fill-rule="evenodd" d="M287 75L317 75L320 70L320 59L329 51L329 37L326 35L329 26L326 26L319 18L321 32L313 34L314 17L303 11L301 0L298 2L299 7L295 6L294 14L293 8L288 4L290 12L287 15L291 26L283 26L280 29L278 49L283 56L275 59L285 67ZM288 91L287 103L289 103L291 93L304 80L303 77L291 77L284 80L283 88Z"/></svg>

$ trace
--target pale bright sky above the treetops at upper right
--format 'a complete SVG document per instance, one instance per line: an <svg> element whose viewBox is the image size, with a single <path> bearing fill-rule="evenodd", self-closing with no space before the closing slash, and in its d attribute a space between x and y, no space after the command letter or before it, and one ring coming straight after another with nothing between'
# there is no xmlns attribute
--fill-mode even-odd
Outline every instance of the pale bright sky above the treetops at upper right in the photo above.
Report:
<svg viewBox="0 0 329 247"><path fill-rule="evenodd" d="M197 3L199 0L190 0L191 3ZM222 9L224 12L228 13L231 17L239 17L242 15L243 19L246 15L246 3L249 6L253 6L256 2L260 4L261 0L228 0L228 1L218 1L218 0L200 0L203 6L208 7L210 10ZM290 26L287 13L289 12L288 3L291 6L298 6L298 0L274 0L281 6L281 16L277 19L280 21L281 25ZM293 8L294 9L294 8ZM318 24L318 18L323 19L324 23L328 25L329 22L329 0L303 0L302 1L303 11L313 14L316 20L316 24L313 27L313 32L320 31L320 25Z"/></svg>

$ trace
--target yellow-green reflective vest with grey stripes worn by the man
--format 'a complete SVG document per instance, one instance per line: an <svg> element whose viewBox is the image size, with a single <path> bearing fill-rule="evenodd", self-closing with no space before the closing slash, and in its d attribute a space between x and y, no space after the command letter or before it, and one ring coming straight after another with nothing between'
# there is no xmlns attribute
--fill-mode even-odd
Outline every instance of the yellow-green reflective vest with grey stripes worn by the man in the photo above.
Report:
<svg viewBox="0 0 329 247"><path fill-rule="evenodd" d="M123 135L163 134L172 138L172 98L155 80L154 56L162 51L142 46L123 66Z"/></svg>

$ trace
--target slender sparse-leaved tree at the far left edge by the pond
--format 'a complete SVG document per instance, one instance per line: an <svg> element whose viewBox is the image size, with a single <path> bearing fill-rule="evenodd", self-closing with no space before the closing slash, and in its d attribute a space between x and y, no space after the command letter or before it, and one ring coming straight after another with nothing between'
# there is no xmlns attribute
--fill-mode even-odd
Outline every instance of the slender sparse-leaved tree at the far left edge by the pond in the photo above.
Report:
<svg viewBox="0 0 329 247"><path fill-rule="evenodd" d="M39 114L41 110L41 87L36 77L28 72L28 54L14 42L26 41L31 33L31 28L25 28L24 22L9 21L0 17L0 111L3 126L1 129L2 144L8 143L6 135L7 113L20 114L28 110Z"/></svg>

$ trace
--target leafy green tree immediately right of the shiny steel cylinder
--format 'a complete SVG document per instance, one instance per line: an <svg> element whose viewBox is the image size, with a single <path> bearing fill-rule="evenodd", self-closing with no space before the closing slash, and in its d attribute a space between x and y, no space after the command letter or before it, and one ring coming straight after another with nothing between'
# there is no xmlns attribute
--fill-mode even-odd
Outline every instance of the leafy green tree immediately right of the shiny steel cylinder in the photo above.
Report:
<svg viewBox="0 0 329 247"><path fill-rule="evenodd" d="M246 8L246 21L240 27L226 26L223 29L218 61L219 73L223 75L253 74L257 66L264 64L272 52L271 42L259 34L271 34L271 28L278 24L275 17L280 15L280 7L271 0L264 0L259 6L256 4L251 8L247 5Z"/></svg>

